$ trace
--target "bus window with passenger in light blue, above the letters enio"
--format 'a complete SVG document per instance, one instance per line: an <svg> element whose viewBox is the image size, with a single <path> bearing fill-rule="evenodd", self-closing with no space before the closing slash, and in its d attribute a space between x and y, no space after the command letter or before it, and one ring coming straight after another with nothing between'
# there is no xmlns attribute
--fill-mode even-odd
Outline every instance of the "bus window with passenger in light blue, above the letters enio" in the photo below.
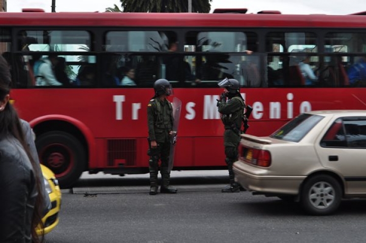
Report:
<svg viewBox="0 0 366 243"><path fill-rule="evenodd" d="M315 33L269 32L265 43L268 52L269 86L319 85L319 57L315 55L318 53L318 43Z"/></svg>

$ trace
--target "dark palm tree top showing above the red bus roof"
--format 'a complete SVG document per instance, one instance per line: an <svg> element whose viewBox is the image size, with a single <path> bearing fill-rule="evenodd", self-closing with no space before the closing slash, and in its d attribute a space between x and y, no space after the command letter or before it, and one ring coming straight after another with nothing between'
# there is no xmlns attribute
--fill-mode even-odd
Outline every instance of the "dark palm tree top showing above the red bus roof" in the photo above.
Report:
<svg viewBox="0 0 366 243"><path fill-rule="evenodd" d="M188 12L188 0L120 0L122 11L114 5L106 12L142 12L142 13L184 13ZM208 13L212 0L192 0L193 13Z"/></svg>

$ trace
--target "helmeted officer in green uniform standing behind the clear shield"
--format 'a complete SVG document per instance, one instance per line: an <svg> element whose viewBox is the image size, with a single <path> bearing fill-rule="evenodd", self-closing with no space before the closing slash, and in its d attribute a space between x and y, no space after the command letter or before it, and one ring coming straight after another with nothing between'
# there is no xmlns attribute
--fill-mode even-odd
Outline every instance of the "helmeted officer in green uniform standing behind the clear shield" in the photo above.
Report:
<svg viewBox="0 0 366 243"><path fill-rule="evenodd" d="M168 170L170 153L170 135L173 128L172 105L166 98L172 94L172 87L168 80L158 79L154 83L155 96L150 99L147 105L147 124L149 150L149 172L150 172L150 195L158 193L158 171L159 159L162 184L161 193L176 193L177 189L169 186L170 171Z"/></svg>

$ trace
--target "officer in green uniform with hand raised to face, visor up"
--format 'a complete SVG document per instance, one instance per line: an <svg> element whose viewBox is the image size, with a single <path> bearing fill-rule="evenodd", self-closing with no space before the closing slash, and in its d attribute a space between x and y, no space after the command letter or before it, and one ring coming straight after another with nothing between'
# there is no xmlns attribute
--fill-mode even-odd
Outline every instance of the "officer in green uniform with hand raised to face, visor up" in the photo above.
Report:
<svg viewBox="0 0 366 243"><path fill-rule="evenodd" d="M240 185L234 181L233 163L238 158L238 146L240 143L241 125L246 107L240 94L240 84L235 79L224 79L219 83L224 92L218 100L217 106L221 114L221 120L225 126L224 146L225 162L229 169L230 185L222 189L222 192L239 192Z"/></svg>

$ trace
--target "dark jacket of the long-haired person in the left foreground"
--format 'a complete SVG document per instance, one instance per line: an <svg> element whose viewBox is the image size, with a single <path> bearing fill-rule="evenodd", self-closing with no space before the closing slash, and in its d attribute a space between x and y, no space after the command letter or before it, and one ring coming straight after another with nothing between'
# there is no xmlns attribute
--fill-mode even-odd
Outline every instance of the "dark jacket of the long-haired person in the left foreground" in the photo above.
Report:
<svg viewBox="0 0 366 243"><path fill-rule="evenodd" d="M0 242L32 242L36 173L21 144L0 138Z"/></svg>

